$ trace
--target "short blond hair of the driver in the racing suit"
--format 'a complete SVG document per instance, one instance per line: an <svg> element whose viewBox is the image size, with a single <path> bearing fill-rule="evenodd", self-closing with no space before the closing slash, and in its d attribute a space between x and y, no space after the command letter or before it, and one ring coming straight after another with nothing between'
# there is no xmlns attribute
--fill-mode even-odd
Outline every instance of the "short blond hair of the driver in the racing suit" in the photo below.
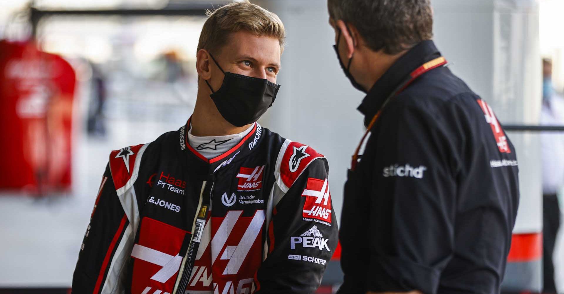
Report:
<svg viewBox="0 0 564 294"><path fill-rule="evenodd" d="M217 52L227 43L231 33L240 30L246 30L255 36L277 38L280 52L284 50L286 30L280 18L248 0L229 3L214 11L208 10L206 15L208 19L200 33L198 51L206 49Z"/></svg>

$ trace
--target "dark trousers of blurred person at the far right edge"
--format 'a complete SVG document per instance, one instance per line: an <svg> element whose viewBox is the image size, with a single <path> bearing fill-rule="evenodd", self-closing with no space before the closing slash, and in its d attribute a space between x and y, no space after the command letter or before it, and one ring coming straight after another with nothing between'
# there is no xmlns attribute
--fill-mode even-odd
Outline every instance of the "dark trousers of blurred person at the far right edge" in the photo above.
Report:
<svg viewBox="0 0 564 294"><path fill-rule="evenodd" d="M560 207L556 194L543 196L543 293L557 293L554 283L554 245L560 227Z"/></svg>

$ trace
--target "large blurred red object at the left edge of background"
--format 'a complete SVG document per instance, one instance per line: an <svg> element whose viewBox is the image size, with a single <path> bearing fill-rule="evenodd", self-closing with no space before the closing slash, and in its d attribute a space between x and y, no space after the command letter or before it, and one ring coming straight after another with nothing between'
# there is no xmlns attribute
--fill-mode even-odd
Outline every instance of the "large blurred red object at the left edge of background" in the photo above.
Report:
<svg viewBox="0 0 564 294"><path fill-rule="evenodd" d="M0 41L0 188L65 191L71 185L76 76L33 42Z"/></svg>

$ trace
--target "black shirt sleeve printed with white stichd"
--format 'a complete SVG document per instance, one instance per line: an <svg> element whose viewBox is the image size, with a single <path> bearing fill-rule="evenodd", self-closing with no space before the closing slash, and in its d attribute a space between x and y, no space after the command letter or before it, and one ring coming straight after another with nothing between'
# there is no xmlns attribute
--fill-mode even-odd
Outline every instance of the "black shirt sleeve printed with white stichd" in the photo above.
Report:
<svg viewBox="0 0 564 294"><path fill-rule="evenodd" d="M450 131L452 125L438 112L404 106L388 111L374 130L369 291L437 292L455 242L458 161L452 137L460 134Z"/></svg>

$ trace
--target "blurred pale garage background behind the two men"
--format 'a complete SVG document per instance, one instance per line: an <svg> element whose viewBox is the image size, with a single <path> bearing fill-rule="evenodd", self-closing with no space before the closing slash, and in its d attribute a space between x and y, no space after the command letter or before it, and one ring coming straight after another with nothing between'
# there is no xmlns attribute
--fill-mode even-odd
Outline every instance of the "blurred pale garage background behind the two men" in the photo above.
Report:
<svg viewBox="0 0 564 294"><path fill-rule="evenodd" d="M288 31L283 87L261 123L328 157L339 216L345 171L364 131L356 111L363 95L331 48L326 0L251 2L278 14ZM67 291L109 152L186 122L204 13L223 3L0 1L0 293ZM561 142L550 150L564 156L563 128L538 127L543 58L552 60L559 95L564 1L431 3L450 68L491 104L517 148L522 198L504 291L540 292L543 142ZM554 260L564 293L564 234ZM340 279L335 256L319 293Z"/></svg>

